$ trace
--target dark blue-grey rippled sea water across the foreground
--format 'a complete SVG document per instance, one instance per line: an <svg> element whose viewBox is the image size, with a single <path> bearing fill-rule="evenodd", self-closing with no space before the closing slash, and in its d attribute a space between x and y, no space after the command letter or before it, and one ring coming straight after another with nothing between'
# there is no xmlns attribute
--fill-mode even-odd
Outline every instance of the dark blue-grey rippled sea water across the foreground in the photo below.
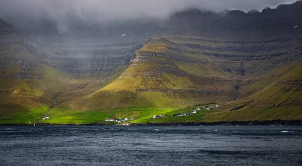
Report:
<svg viewBox="0 0 302 166"><path fill-rule="evenodd" d="M302 165L302 126L2 126L0 165Z"/></svg>

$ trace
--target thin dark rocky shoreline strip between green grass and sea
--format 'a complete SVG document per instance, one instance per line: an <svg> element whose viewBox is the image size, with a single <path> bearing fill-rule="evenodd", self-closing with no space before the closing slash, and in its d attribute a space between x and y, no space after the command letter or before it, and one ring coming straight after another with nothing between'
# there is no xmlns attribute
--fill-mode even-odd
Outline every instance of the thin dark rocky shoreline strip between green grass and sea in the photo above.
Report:
<svg viewBox="0 0 302 166"><path fill-rule="evenodd" d="M101 124L101 123L38 123L36 126L302 126L302 120L265 120L265 121L221 121L221 122L167 122L167 123L123 123L123 124ZM0 126L33 126L32 124L0 124Z"/></svg>

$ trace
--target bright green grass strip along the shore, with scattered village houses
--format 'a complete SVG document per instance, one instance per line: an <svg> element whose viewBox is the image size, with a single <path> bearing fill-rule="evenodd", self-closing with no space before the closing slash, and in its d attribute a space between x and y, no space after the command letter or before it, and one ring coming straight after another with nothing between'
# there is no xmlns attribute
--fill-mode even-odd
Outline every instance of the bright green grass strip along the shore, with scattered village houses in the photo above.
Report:
<svg viewBox="0 0 302 166"><path fill-rule="evenodd" d="M196 114L192 109L201 108ZM56 107L48 114L49 119L42 120L48 111L47 106L40 106L31 111L7 112L0 111L0 124L124 124L124 123L191 123L191 122L221 122L221 121L269 121L269 120L299 120L302 119L301 108L279 108L261 110L220 111L215 108L204 110L201 106L187 108L157 108L138 107L120 108L114 110L81 111L66 107ZM190 113L187 116L173 116L175 114ZM153 118L154 115L165 117ZM106 118L127 118L127 121L117 123L105 121ZM130 120L133 118L132 120ZM29 123L31 122L31 123Z"/></svg>

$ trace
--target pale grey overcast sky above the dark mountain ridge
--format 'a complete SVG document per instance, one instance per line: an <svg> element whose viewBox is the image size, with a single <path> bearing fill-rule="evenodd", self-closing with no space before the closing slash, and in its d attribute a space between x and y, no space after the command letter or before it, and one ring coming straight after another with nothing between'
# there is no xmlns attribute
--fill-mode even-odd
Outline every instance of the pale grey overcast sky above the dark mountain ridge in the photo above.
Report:
<svg viewBox="0 0 302 166"><path fill-rule="evenodd" d="M104 18L167 17L183 8L199 8L212 11L275 8L279 4L291 4L295 0L1 0L0 13L26 14L35 17L50 15L60 17L66 12L82 16L101 15Z"/></svg>

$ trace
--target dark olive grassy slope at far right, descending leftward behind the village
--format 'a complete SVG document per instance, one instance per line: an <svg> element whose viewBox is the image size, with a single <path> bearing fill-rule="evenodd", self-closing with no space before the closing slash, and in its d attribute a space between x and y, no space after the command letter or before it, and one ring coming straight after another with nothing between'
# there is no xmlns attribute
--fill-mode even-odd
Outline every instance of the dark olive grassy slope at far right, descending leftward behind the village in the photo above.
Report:
<svg viewBox="0 0 302 166"><path fill-rule="evenodd" d="M299 61L301 65L301 59ZM291 69L284 76L251 96L224 104L222 109L234 111L288 107L302 109L302 66Z"/></svg>

